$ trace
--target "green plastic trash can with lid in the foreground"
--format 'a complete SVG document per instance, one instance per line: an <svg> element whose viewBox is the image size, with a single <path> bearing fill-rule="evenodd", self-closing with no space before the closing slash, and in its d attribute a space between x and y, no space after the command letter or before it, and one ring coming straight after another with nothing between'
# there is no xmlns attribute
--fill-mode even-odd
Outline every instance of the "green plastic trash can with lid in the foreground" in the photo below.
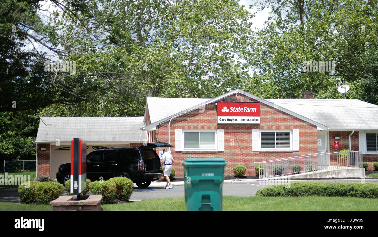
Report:
<svg viewBox="0 0 378 237"><path fill-rule="evenodd" d="M222 211L225 159L185 159L184 189L187 211Z"/></svg>

